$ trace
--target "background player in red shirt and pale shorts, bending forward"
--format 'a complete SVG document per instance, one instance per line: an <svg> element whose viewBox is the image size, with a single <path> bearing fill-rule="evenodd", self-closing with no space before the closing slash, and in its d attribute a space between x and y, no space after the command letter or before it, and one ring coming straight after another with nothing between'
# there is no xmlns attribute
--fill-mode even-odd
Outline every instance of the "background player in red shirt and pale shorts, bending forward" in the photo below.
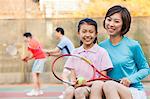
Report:
<svg viewBox="0 0 150 99"><path fill-rule="evenodd" d="M32 66L32 77L33 77L33 89L28 92L28 96L38 96L42 95L43 91L41 90L40 83L40 74L43 72L44 64L46 61L46 54L42 50L42 46L35 37L32 36L30 32L23 34L24 41L27 45L27 50L29 52L23 60L27 62L29 59L34 58L35 61Z"/></svg>

